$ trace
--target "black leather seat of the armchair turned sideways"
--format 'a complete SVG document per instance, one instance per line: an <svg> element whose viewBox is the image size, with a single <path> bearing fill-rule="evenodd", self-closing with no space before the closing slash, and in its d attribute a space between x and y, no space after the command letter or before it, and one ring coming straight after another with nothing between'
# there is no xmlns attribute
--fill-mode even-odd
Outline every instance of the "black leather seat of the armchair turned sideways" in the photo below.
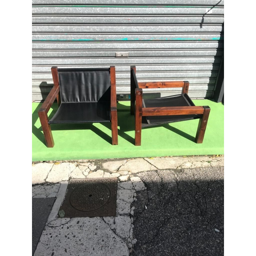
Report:
<svg viewBox="0 0 256 256"><path fill-rule="evenodd" d="M156 99L143 99L142 105L143 108L195 106L192 100L188 97L187 93ZM143 117L142 127L156 126L160 124L168 124L200 118L200 116L198 115L145 116L145 118Z"/></svg>

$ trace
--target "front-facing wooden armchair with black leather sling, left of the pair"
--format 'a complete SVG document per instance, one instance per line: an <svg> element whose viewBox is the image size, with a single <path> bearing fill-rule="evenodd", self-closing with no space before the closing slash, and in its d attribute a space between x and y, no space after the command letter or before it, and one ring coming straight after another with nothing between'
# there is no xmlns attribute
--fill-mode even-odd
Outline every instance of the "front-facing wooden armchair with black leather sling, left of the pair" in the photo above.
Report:
<svg viewBox="0 0 256 256"><path fill-rule="evenodd" d="M100 122L111 122L112 145L117 145L115 66L51 70L54 86L38 111L46 146L54 146L51 124ZM47 113L56 98L59 108L49 121Z"/></svg>

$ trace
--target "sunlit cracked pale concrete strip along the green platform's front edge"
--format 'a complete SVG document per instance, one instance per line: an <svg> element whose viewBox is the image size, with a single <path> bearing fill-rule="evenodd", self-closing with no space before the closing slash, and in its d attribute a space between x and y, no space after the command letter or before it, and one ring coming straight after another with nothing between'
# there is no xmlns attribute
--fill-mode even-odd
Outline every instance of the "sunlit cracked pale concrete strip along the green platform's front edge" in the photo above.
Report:
<svg viewBox="0 0 256 256"><path fill-rule="evenodd" d="M224 156L147 157L107 162L106 160L97 160L95 163L93 160L82 161L84 160L77 160L72 163L68 161L34 163L32 165L32 184L42 184L44 182L57 183L70 178L83 179L88 175L89 177L87 178L95 178L96 175L97 178L102 178L103 176L120 177L119 181L125 181L138 172L149 170L224 166ZM103 162L102 166L101 162Z"/></svg>

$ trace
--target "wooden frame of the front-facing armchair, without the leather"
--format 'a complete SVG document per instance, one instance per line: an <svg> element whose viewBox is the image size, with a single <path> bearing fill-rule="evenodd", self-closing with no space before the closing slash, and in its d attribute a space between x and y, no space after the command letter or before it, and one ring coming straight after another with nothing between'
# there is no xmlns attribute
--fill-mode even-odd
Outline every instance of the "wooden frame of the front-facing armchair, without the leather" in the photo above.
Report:
<svg viewBox="0 0 256 256"><path fill-rule="evenodd" d="M61 104L58 67L52 67L51 71L54 85L52 87L52 90L44 100L41 108L38 110L38 116L44 132L46 146L48 148L53 148L54 146L52 130L48 119L48 111L51 108L52 103L55 99L57 99L59 106ZM115 66L110 66L110 122L112 132L112 145L118 145Z"/></svg>

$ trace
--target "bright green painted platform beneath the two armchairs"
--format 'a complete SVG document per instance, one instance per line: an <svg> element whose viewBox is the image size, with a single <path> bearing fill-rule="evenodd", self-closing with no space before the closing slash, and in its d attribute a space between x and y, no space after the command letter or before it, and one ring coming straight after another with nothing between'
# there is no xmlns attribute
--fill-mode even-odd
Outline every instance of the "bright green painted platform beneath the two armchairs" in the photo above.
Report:
<svg viewBox="0 0 256 256"><path fill-rule="evenodd" d="M119 101L117 146L111 145L110 123L55 124L51 125L53 148L47 148L44 141L37 114L41 103L32 103L32 161L224 154L224 106L211 100L193 102L211 108L202 144L194 142L197 119L142 129L141 146L134 146L130 102ZM57 108L54 103L49 118Z"/></svg>

